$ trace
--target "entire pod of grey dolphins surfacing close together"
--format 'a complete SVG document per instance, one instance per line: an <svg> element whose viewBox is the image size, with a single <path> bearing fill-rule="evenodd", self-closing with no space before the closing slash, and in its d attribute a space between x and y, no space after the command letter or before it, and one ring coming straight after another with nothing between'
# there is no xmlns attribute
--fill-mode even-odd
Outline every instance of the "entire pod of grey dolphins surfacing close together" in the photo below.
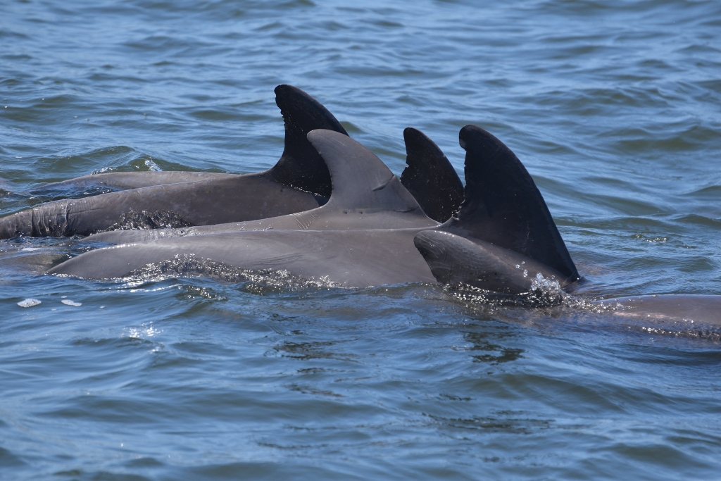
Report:
<svg viewBox="0 0 721 481"><path fill-rule="evenodd" d="M89 240L118 244L48 271L94 279L149 266L182 275L183 265L199 261L262 275L283 270L349 288L440 283L513 298L544 286L569 290L580 278L531 176L487 131L466 125L459 133L464 187L430 138L405 129L407 167L397 178L317 100L288 85L275 94L286 139L271 169L250 175L115 172L50 184L41 190L99 186L120 192L6 216L0 239L91 234ZM133 213L165 213L161 226L176 227L112 230ZM635 296L592 305L624 321L694 327L695 319L721 326L721 296Z"/></svg>

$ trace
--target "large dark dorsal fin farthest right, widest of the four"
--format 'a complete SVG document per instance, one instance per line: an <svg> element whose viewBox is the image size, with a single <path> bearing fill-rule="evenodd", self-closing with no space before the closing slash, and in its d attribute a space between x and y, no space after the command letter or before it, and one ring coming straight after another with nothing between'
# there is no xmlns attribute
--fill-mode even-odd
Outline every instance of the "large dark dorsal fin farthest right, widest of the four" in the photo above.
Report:
<svg viewBox="0 0 721 481"><path fill-rule="evenodd" d="M475 125L461 128L460 141L466 150L465 199L458 219L443 229L513 250L577 280L546 202L516 154Z"/></svg>

